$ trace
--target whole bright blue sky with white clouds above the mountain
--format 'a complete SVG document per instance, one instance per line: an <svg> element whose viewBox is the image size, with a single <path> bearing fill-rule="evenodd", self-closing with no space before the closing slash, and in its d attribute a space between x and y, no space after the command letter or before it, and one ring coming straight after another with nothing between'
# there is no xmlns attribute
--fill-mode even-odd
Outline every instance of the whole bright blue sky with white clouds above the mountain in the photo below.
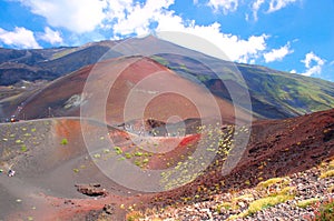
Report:
<svg viewBox="0 0 334 221"><path fill-rule="evenodd" d="M334 0L2 0L0 9L4 48L179 31L232 61L334 81Z"/></svg>

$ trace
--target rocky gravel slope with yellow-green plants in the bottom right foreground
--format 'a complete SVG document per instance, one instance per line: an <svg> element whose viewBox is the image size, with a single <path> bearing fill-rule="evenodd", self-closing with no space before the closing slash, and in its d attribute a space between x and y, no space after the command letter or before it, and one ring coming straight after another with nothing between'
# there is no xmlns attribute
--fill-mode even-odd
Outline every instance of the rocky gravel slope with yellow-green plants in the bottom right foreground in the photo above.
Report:
<svg viewBox="0 0 334 221"><path fill-rule="evenodd" d="M334 160L255 188L232 190L190 205L130 212L128 220L314 220L334 199ZM333 214L332 214L333 217Z"/></svg>

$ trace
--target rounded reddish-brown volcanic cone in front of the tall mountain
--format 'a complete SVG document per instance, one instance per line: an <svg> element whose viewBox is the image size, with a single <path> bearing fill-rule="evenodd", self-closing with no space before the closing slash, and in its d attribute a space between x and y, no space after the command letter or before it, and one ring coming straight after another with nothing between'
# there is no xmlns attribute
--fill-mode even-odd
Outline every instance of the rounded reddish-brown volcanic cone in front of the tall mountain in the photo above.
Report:
<svg viewBox="0 0 334 221"><path fill-rule="evenodd" d="M78 117L80 104L84 117L106 119L110 124L143 118L168 121L173 115L181 120L222 117L234 122L236 108L151 59L130 57L57 79L27 100L20 117ZM238 119L247 121L247 113L237 111Z"/></svg>

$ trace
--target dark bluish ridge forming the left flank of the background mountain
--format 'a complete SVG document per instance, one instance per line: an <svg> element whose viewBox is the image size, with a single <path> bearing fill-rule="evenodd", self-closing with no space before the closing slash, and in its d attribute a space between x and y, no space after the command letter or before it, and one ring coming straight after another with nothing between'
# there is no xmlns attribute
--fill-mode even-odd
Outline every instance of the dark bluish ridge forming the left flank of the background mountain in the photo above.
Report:
<svg viewBox="0 0 334 221"><path fill-rule="evenodd" d="M96 63L115 42L78 48L13 50L0 49L0 84L21 80L55 80L85 66ZM119 57L115 54L114 57Z"/></svg>

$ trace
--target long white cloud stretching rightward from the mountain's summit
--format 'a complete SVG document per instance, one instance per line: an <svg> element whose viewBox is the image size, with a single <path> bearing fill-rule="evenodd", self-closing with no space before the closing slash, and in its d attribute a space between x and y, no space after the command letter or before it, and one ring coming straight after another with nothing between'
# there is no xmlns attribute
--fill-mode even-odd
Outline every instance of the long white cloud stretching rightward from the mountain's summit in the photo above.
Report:
<svg viewBox="0 0 334 221"><path fill-rule="evenodd" d="M266 39L268 36L250 36L248 39L240 39L237 36L220 32L220 24L215 22L210 26L197 26L195 21L185 22L180 17L171 12L160 14L158 18L157 31L179 31L195 34L219 48L232 61L248 62L252 59L259 57L259 53L266 49ZM168 39L166 39L168 40ZM198 50L210 56L227 59L224 54L214 54L212 51L206 51L206 48L191 42L183 41L183 39L173 39L177 43ZM222 51L219 51L222 53ZM217 52L218 53L218 52Z"/></svg>

